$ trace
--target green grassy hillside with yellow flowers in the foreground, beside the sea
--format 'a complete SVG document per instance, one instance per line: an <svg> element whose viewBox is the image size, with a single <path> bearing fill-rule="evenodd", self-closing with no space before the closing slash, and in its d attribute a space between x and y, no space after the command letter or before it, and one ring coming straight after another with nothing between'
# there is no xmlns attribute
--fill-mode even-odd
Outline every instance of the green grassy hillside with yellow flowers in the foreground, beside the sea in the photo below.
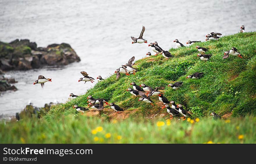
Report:
<svg viewBox="0 0 256 164"><path fill-rule="evenodd" d="M39 120L22 118L18 122L0 123L1 143L255 143L255 38L256 32L237 33L218 41L172 48L171 59L159 54L137 60L135 75L121 74L116 80L114 74L99 81L85 95L51 106ZM212 56L208 61L197 57L197 45L209 48L207 54ZM242 58L230 56L223 60L224 52L232 47L238 49ZM200 79L186 79L195 72L204 75ZM181 88L168 87L176 81L183 81ZM158 96L151 96L154 107L139 102L138 97L126 91L132 87L131 82L152 88L164 86L164 96L182 104L193 117L182 121L175 116L166 121L170 114L166 108L161 109L163 104ZM88 111L81 115L73 106L87 107L88 95L114 102L125 111L115 114L106 105L100 113ZM223 119L212 120L211 112ZM127 119L121 121L123 118Z"/></svg>

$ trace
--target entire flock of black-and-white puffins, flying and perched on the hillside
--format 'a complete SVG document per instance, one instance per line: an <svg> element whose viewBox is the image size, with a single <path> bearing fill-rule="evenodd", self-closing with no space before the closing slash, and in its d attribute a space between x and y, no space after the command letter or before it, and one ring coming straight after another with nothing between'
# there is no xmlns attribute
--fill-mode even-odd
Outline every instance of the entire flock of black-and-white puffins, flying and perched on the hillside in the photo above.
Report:
<svg viewBox="0 0 256 164"><path fill-rule="evenodd" d="M133 40L131 43L147 43L147 40L143 39L143 33L145 31L145 27L142 27L142 31L141 34L138 38L135 37L131 37L131 39ZM240 33L243 33L245 31L244 26L241 26L241 30L239 31ZM219 36L218 36L219 35ZM205 41L209 41L209 40L218 40L218 38L220 38L220 35L222 35L221 33L214 33L211 32L210 34L206 35L206 39ZM182 43L180 43L178 41L178 39L175 39L173 42L176 42L177 47L184 47L184 45ZM186 44L194 44L196 42L201 42L201 41L188 41L186 42ZM157 42L154 43L150 43L148 46L151 46L152 51L154 51L156 55L158 55L159 53L161 55L163 55L163 57L169 59L171 57L173 57L173 55L171 55L171 53L169 51L164 51ZM198 51L200 53L198 53L198 57L200 57L201 60L207 61L210 59L211 54L205 54L208 49L204 48L204 47L200 47L200 46L196 46L196 48L198 49ZM148 52L146 55L151 56L151 53ZM231 50L229 51L225 51L224 52L224 56L223 59L227 59L229 56L237 56L242 58L242 55L238 52L237 48L232 47ZM126 75L130 75L130 74L134 74L137 72L137 69L135 69L134 67L132 67L134 65L133 61L134 61L135 57L131 57L131 59L128 61L127 64L122 65L120 68L115 70L116 73L116 80L120 77L121 73L122 74L126 74ZM80 78L78 80L78 82L80 81L84 81L84 83L90 81L90 82L94 82L93 80L95 80L94 78L88 76L88 73L86 73L86 71L81 71L80 72L83 77ZM202 75L204 73L203 72L196 72L193 73L192 75L188 75L186 78L192 78L192 79L198 79L201 78ZM104 80L101 76L98 76L97 79L99 80ZM50 78L45 78L42 75L38 76L38 80L36 80L34 82L34 84L41 84L42 87L44 87L44 83L45 82L51 82ZM168 86L170 86L173 89L179 89L182 86L183 82L175 82L174 84L168 84ZM173 119L173 116L178 116L179 114L181 114L183 117L183 120L186 120L186 117L191 116L191 114L189 114L189 112L187 112L185 109L183 109L182 104L175 104L174 101L169 101L166 97L163 96L164 93L162 93L161 89L164 89L163 86L160 87L156 87L155 89L153 89L150 86L147 86L146 84L141 84L140 86L136 85L135 82L131 82L132 88L128 88L127 91L129 91L131 93L131 95L134 95L135 97L140 96L138 101L142 101L142 102L146 102L146 103L150 103L152 106L154 106L154 102L150 99L150 96L153 95L158 95L159 96L159 101L163 103L163 107L161 107L162 109L167 108L167 112L170 114L170 119ZM141 88L142 87L142 88ZM71 97L77 97L77 95L74 95L73 93L70 93ZM93 98L91 95L89 95L87 97L88 99L88 107L79 107L78 105L74 105L73 108L76 108L76 110L78 112L80 112L81 114L83 114L85 111L89 111L89 108L92 108L92 110L97 110L97 111L101 111L104 109L104 103L107 105L110 105L111 108L113 110L116 111L116 113L119 113L120 111L124 111L124 109L122 109L121 107L119 107L118 105L114 104L114 103L108 103L107 100L105 99L95 99ZM211 113L211 116L213 116L214 119L220 119L221 117L219 115L217 115L216 113Z"/></svg>

